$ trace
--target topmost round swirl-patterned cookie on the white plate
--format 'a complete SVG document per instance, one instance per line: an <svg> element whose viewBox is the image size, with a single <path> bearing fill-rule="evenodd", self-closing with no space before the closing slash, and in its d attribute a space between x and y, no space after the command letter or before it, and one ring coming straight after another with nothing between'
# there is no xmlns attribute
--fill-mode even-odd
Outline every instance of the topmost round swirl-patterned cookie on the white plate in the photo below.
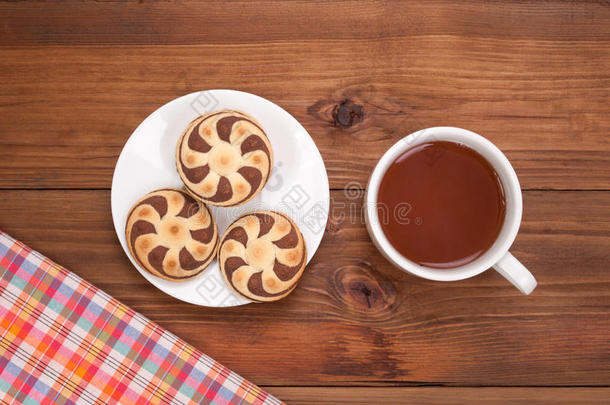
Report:
<svg viewBox="0 0 610 405"><path fill-rule="evenodd" d="M273 167L265 131L239 111L196 118L176 145L176 167L186 189L207 204L231 207L263 189Z"/></svg>

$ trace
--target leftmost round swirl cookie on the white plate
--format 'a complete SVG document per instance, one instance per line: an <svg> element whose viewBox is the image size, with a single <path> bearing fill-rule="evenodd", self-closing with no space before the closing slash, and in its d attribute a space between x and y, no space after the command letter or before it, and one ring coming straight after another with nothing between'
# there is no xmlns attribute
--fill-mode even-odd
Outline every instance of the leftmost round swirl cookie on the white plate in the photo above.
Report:
<svg viewBox="0 0 610 405"><path fill-rule="evenodd" d="M216 255L212 214L184 190L146 194L129 211L125 227L132 257L149 273L170 281L199 275Z"/></svg>

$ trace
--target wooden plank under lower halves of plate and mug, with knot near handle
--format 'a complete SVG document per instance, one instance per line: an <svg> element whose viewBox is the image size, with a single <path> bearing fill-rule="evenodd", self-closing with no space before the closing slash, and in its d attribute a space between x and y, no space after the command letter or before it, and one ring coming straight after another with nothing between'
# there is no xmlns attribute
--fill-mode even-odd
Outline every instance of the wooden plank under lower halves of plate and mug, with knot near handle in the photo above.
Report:
<svg viewBox="0 0 610 405"><path fill-rule="evenodd" d="M492 271L439 283L391 267L361 222L361 198L335 191L299 288L232 309L148 284L118 244L108 191L5 190L0 201L0 229L258 384L609 382L610 192L525 193L512 251L539 286L523 296Z"/></svg>

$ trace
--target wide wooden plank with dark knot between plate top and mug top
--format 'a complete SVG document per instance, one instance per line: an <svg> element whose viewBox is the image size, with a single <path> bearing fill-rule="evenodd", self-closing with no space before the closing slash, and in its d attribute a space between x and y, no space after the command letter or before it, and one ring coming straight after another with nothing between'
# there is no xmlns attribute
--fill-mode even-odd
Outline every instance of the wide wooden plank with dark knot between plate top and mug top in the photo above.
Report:
<svg viewBox="0 0 610 405"><path fill-rule="evenodd" d="M460 35L0 48L0 188L108 188L155 108L236 88L307 128L332 188L366 184L403 136L451 125L496 143L525 189L607 190L609 63L610 41Z"/></svg>

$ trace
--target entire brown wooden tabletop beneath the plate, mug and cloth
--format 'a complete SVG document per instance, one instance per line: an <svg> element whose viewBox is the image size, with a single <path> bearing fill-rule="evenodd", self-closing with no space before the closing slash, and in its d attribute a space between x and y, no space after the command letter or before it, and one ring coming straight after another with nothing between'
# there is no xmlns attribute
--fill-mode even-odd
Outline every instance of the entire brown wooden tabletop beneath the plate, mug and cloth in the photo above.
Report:
<svg viewBox="0 0 610 405"><path fill-rule="evenodd" d="M607 1L2 1L0 23L0 229L288 402L610 397ZM333 206L358 208L335 211L278 303L175 300L113 229L131 132L210 88L294 115ZM358 184L398 139L438 125L512 161L524 196L512 251L538 279L531 296L493 271L407 275L370 242Z"/></svg>

